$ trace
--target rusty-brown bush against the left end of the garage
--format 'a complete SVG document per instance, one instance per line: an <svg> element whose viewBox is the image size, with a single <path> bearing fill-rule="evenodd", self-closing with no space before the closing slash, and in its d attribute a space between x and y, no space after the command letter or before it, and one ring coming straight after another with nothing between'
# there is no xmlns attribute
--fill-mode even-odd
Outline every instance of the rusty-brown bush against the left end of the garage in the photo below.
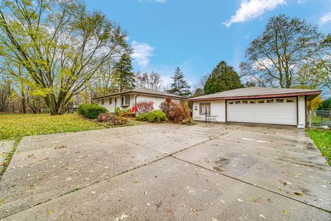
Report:
<svg viewBox="0 0 331 221"><path fill-rule="evenodd" d="M190 116L190 108L188 102L184 101L183 104L172 102L170 98L165 99L165 102L160 104L161 110L166 114L170 122L176 124L192 122Z"/></svg>

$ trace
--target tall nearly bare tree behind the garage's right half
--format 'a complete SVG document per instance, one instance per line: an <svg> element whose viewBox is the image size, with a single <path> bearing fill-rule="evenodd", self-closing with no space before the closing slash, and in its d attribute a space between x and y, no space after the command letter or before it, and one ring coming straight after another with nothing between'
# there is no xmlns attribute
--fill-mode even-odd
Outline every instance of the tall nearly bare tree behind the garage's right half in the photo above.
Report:
<svg viewBox="0 0 331 221"><path fill-rule="evenodd" d="M303 19L272 17L246 50L241 74L260 86L293 87L300 68L319 54L322 37L317 26Z"/></svg>

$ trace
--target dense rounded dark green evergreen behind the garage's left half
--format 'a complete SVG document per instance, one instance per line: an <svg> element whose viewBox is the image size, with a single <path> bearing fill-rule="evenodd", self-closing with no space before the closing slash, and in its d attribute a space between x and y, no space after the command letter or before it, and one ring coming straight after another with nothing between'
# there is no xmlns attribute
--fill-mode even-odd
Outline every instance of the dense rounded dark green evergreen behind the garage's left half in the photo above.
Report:
<svg viewBox="0 0 331 221"><path fill-rule="evenodd" d="M239 75L225 61L219 62L205 82L205 95L242 88Z"/></svg>

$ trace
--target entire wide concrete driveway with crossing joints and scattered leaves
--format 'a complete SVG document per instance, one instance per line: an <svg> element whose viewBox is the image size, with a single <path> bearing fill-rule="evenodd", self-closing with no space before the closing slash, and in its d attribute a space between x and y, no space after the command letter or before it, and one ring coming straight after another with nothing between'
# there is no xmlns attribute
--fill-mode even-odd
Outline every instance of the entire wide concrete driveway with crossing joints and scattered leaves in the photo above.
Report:
<svg viewBox="0 0 331 221"><path fill-rule="evenodd" d="M331 167L302 130L141 124L24 137L1 220L331 220Z"/></svg>

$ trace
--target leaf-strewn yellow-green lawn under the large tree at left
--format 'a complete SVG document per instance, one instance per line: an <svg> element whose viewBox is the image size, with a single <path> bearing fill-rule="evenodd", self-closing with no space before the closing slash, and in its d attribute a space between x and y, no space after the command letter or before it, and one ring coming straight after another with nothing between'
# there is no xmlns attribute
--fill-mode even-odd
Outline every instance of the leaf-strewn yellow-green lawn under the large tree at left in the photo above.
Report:
<svg viewBox="0 0 331 221"><path fill-rule="evenodd" d="M0 115L0 140L27 135L88 131L106 128L76 114L3 114Z"/></svg>

